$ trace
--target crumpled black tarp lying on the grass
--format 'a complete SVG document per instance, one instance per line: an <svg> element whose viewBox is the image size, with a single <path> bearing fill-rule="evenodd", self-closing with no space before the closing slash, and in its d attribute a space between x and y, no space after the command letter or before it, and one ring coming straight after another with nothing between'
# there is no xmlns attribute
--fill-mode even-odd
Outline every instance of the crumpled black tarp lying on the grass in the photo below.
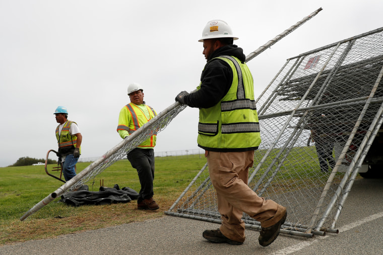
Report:
<svg viewBox="0 0 383 255"><path fill-rule="evenodd" d="M77 191L61 195L61 202L71 206L80 205L110 205L111 203L127 203L138 198L137 191L118 184L113 188L100 187L100 191L89 191L87 185L81 186Z"/></svg>

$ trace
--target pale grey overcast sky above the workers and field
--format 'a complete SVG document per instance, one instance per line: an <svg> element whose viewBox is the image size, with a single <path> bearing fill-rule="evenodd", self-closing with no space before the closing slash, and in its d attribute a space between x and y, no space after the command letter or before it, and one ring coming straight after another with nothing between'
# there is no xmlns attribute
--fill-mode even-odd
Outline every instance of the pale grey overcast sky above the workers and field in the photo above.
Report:
<svg viewBox="0 0 383 255"><path fill-rule="evenodd" d="M226 21L244 53L323 8L248 62L256 98L289 57L383 26L381 0L0 0L0 166L57 149L53 112L66 106L83 135L81 157L99 157L116 132L126 89L139 82L159 113L199 84L206 23ZM198 109L157 136L156 152L197 149Z"/></svg>

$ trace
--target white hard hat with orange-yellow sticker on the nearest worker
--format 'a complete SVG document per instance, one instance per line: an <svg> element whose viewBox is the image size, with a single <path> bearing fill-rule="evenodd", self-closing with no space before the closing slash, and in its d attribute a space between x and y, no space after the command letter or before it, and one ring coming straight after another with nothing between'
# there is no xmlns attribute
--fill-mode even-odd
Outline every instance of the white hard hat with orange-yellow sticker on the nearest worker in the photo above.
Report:
<svg viewBox="0 0 383 255"><path fill-rule="evenodd" d="M198 41L203 42L205 39L225 37L231 37L233 40L238 39L238 37L233 36L231 28L226 22L223 20L212 20L206 24L204 31L202 31L202 38Z"/></svg>

